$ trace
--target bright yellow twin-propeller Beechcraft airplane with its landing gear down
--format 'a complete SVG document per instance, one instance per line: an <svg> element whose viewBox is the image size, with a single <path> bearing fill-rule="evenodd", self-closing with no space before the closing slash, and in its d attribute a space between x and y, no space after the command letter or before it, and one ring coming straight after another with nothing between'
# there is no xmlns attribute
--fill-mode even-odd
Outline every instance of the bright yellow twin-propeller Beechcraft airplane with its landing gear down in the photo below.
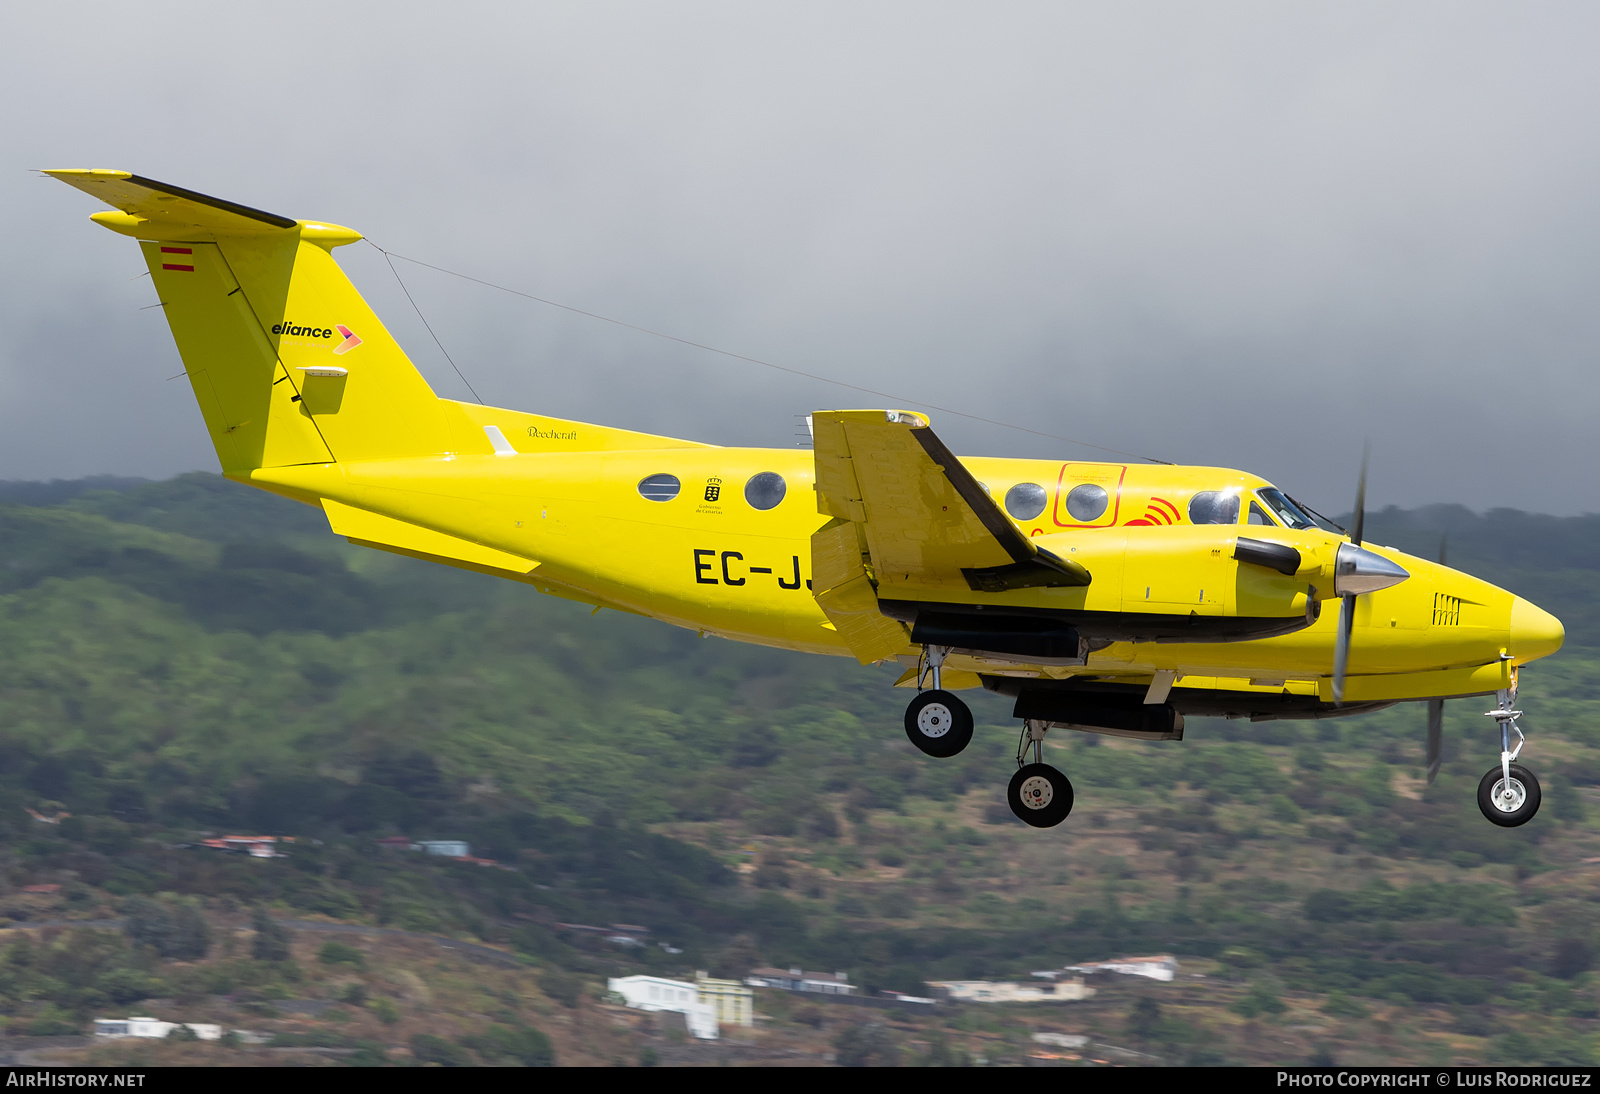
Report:
<svg viewBox="0 0 1600 1094"><path fill-rule="evenodd" d="M702 635L862 664L915 688L906 734L958 753L955 691L1016 701L1006 798L1072 809L1051 728L1182 739L1184 715L1326 718L1496 696L1498 825L1539 784L1517 673L1562 624L1362 542L1221 467L958 459L922 414L819 411L813 451L720 448L438 398L333 259L362 237L128 171L46 171L139 240L222 472L320 505L354 544L526 582ZM1365 483L1365 469L1363 469ZM1323 605L1338 600L1338 611ZM1517 744L1512 747L1512 734Z"/></svg>

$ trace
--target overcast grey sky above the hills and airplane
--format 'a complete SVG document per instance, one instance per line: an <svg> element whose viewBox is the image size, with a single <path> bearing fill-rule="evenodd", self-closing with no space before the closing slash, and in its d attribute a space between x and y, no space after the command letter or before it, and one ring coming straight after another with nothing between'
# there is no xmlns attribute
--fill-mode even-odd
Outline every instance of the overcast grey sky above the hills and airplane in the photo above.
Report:
<svg viewBox="0 0 1600 1094"><path fill-rule="evenodd" d="M1592 3L0 10L0 478L216 469L112 166L1050 433L1600 510ZM382 258L336 251L442 395ZM882 405L403 267L490 403L718 443ZM973 454L1091 449L934 414Z"/></svg>

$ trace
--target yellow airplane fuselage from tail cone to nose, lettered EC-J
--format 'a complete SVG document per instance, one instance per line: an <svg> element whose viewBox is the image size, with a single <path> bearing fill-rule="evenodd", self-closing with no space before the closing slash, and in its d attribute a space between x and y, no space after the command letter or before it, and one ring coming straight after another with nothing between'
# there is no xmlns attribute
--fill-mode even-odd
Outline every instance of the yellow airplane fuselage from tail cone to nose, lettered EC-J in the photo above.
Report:
<svg viewBox="0 0 1600 1094"><path fill-rule="evenodd" d="M275 467L253 472L250 481L536 560L522 579L546 592L707 635L848 656L810 590L810 537L827 520L818 513L810 451L683 441L667 441L669 448L562 451L563 438L592 437L603 427L462 409L474 419L502 422L514 453ZM1186 536L1224 531L1218 523L1230 523L1240 536L1342 539L1322 528L1286 528L1262 501L1270 483L1238 470L1000 457L962 462L1024 534L1058 553L1075 552L1072 557L1082 558L1094 577L1083 589L971 598L992 605L1243 614L1237 582L1211 581L1208 587L1203 555L1189 566L1170 558L1150 565L1150 544L1170 545L1166 555L1182 557ZM747 496L757 477L766 489ZM781 483L776 499L773 483ZM1101 512L1069 509L1069 494L1085 483L1104 491ZM1216 497L1224 499L1221 507ZM1229 497L1235 501L1227 504ZM1130 539L1134 531L1138 550ZM1491 691L1491 675L1560 648L1560 624L1512 593L1389 547L1368 549L1411 576L1357 601L1354 697ZM1336 613L1317 605L1312 614L1309 625L1250 641L1112 641L1075 672L1133 678L1165 670L1187 680L1218 677L1307 694L1326 691ZM915 656L915 648L907 646L904 656ZM1059 669L1029 665L1026 659L952 667L1061 675Z"/></svg>

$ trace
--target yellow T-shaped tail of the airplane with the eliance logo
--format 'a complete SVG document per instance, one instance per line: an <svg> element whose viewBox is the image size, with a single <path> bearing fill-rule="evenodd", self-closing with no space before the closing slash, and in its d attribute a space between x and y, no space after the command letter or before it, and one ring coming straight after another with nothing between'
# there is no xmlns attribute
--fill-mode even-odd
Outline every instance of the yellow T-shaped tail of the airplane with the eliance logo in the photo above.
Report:
<svg viewBox="0 0 1600 1094"><path fill-rule="evenodd" d="M139 240L224 472L461 451L458 440L490 451L333 261L357 232L126 171L45 174L118 210L91 219Z"/></svg>

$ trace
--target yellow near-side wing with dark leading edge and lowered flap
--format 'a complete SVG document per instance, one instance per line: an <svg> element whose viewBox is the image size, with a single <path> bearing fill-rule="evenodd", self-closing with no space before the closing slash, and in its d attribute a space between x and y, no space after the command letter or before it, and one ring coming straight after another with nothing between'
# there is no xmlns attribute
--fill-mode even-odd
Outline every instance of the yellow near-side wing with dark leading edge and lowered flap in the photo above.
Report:
<svg viewBox="0 0 1600 1094"><path fill-rule="evenodd" d="M861 661L904 651L909 635L877 611L877 590L941 592L1090 584L1083 566L1040 550L971 472L909 411L811 416L818 509L813 592Z"/></svg>

